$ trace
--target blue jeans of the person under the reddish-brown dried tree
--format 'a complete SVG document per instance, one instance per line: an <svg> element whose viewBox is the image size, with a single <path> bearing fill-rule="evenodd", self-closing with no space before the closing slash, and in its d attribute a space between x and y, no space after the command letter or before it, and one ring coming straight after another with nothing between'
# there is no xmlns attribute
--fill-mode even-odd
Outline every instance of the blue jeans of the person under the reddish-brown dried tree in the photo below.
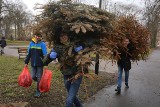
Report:
<svg viewBox="0 0 160 107"><path fill-rule="evenodd" d="M124 67L122 65L118 65L118 86L117 88L121 89L122 86L122 74ZM128 84L129 71L125 71L125 83Z"/></svg>

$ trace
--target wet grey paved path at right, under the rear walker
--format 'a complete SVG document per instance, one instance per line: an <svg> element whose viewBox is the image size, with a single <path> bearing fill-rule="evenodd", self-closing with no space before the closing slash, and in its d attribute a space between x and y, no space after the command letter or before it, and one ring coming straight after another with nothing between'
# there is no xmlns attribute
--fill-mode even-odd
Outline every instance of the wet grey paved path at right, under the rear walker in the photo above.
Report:
<svg viewBox="0 0 160 107"><path fill-rule="evenodd" d="M120 95L116 85L105 87L84 104L84 107L160 107L160 49L149 59L132 64L129 89L122 85Z"/></svg>

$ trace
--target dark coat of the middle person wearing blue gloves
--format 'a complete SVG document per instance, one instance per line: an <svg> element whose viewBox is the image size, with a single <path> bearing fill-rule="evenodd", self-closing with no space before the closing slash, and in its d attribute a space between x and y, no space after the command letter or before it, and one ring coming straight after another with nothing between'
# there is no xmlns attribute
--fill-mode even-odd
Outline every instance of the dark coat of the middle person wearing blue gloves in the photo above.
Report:
<svg viewBox="0 0 160 107"><path fill-rule="evenodd" d="M84 46L83 46L84 47ZM75 61L75 55L77 54L74 51L73 45L56 45L54 47L55 52L57 53L57 59L60 63L60 71L63 75L76 75L78 72L82 71L81 66L77 66L77 62ZM68 55L71 50L71 55ZM53 59L50 58L50 53L44 59L44 65L48 65ZM85 68L87 72L87 68ZM84 72L85 72L84 71Z"/></svg>

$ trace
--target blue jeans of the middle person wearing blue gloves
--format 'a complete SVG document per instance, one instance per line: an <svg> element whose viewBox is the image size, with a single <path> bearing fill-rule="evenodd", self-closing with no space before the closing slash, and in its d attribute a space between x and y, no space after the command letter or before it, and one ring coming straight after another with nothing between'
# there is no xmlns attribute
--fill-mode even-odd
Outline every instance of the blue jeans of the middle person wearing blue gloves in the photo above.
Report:
<svg viewBox="0 0 160 107"><path fill-rule="evenodd" d="M75 104L76 107L82 107L82 104L77 98L77 92L79 90L80 84L82 82L82 76L79 77L74 82L68 81L69 76L64 75L64 84L65 88L67 89L68 96L66 99L66 106L65 107L73 107Z"/></svg>

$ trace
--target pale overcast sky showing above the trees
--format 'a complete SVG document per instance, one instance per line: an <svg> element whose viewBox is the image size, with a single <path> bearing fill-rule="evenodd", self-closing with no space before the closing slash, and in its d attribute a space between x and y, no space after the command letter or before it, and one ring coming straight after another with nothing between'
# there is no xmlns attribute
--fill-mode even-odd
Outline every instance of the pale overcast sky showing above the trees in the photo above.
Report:
<svg viewBox="0 0 160 107"><path fill-rule="evenodd" d="M32 12L35 12L33 8L36 3L45 4L49 0L22 0L22 1L24 4L27 5L29 10L31 10ZM99 2L99 0L82 0L82 1L85 1L87 4L96 5L96 6L98 6L98 2ZM109 0L109 1L113 1L116 3L122 2L124 4L135 4L139 7L144 6L144 3L142 2L142 0Z"/></svg>

